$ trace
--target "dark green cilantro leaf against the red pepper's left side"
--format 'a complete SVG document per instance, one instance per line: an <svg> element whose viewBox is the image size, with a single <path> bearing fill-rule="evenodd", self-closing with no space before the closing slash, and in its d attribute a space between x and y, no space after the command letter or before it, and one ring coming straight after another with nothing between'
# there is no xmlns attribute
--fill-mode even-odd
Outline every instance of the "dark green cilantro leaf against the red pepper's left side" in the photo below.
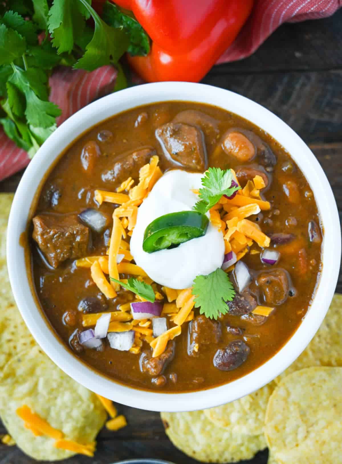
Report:
<svg viewBox="0 0 342 464"><path fill-rule="evenodd" d="M123 13L108 1L103 5L102 17L110 26L123 28L129 34L127 52L132 56L148 55L150 51L148 35L135 18Z"/></svg>

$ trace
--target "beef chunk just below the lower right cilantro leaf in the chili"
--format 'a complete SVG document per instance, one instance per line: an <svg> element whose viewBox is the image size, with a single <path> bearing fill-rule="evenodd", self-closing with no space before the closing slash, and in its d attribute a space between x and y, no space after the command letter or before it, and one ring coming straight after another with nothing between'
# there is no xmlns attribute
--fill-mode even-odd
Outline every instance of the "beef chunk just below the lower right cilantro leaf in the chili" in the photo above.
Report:
<svg viewBox="0 0 342 464"><path fill-rule="evenodd" d="M201 345L218 343L221 338L221 324L201 314L189 324L187 352L189 356L198 356Z"/></svg>

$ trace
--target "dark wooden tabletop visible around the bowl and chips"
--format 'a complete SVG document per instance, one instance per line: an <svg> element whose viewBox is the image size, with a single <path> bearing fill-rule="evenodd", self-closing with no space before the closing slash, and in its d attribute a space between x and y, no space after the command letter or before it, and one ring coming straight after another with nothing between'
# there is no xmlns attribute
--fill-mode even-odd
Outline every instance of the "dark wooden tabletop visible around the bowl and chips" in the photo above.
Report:
<svg viewBox="0 0 342 464"><path fill-rule="evenodd" d="M333 17L281 26L250 58L215 66L206 84L237 92L265 106L287 122L310 146L334 191L342 214L342 10ZM22 172L0 182L0 192L14 192ZM337 284L342 293L342 274ZM209 393L210 394L210 393ZM110 464L121 459L159 458L176 464L197 461L168 440L157 412L118 405L128 426L103 430L94 458L75 456L68 464ZM5 433L0 424L0 433ZM267 450L253 464L266 464ZM0 445L0 464L32 464L16 446ZM244 463L247 461L243 461ZM242 461L241 461L242 463ZM323 464L323 463L322 463Z"/></svg>

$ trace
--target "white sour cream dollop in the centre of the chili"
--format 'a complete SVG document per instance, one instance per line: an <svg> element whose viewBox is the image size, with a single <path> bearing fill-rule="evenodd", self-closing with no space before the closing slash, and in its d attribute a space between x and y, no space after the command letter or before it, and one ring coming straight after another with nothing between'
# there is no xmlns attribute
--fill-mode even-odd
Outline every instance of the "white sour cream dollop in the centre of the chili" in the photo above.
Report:
<svg viewBox="0 0 342 464"><path fill-rule="evenodd" d="M130 252L136 264L151 279L173 289L191 287L198 275L207 275L221 267L225 255L222 232L209 222L203 237L193 238L170 250L147 253L142 249L148 224L168 213L190 211L198 195L191 189L201 187L203 174L187 173L179 169L164 174L155 184L138 209ZM207 213L209 217L209 213Z"/></svg>

